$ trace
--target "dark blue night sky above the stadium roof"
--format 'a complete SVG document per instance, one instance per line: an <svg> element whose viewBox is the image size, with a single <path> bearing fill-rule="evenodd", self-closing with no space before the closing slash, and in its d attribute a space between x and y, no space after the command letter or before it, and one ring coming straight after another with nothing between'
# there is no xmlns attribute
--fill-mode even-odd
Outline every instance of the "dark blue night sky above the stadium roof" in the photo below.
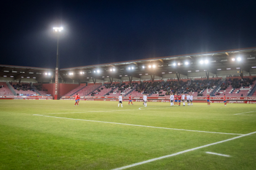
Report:
<svg viewBox="0 0 256 170"><path fill-rule="evenodd" d="M78 67L256 46L256 1L6 1L0 64Z"/></svg>

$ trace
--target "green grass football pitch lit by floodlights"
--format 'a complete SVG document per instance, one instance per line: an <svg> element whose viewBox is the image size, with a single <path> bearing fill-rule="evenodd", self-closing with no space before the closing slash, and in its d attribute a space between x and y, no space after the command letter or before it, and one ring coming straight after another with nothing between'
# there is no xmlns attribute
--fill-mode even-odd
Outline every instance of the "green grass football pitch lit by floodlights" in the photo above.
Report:
<svg viewBox="0 0 256 170"><path fill-rule="evenodd" d="M78 119L235 134L256 131L254 104L123 105L80 101L74 107L74 101L67 100L0 100L0 169L114 169L237 136ZM255 112L244 113L249 111ZM256 134L252 134L129 169L255 169L255 157Z"/></svg>

